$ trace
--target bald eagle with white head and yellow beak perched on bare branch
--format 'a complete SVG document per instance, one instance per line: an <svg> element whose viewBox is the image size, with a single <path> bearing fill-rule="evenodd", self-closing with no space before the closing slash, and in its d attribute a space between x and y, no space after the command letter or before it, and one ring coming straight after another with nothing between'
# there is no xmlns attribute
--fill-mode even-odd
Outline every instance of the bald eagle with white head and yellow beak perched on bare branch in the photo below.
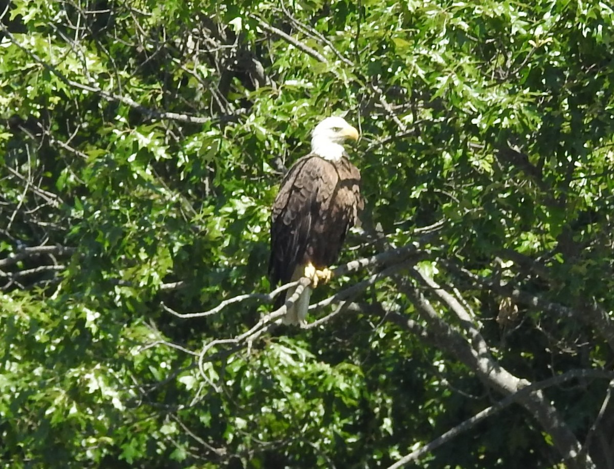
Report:
<svg viewBox="0 0 614 469"><path fill-rule="evenodd" d="M328 281L349 228L359 222L364 201L360 171L348 160L346 139L359 133L341 117L327 117L311 134L311 153L300 158L282 180L271 213L271 257L268 273L273 285L301 277L311 287L288 309L283 324L303 324L311 288ZM296 289L289 289L290 298ZM281 295L276 303L284 303Z"/></svg>

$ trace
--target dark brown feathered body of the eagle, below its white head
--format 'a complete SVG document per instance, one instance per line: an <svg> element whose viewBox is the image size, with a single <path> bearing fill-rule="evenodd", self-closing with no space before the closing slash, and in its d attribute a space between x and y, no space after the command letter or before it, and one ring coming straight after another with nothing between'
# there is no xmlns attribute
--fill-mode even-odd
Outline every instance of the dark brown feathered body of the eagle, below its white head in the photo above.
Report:
<svg viewBox="0 0 614 469"><path fill-rule="evenodd" d="M360 171L345 154L335 161L310 153L290 168L271 214L269 275L273 284L298 280L309 263L324 269L336 262L364 206L359 186ZM302 319L290 317L284 322L296 324Z"/></svg>

